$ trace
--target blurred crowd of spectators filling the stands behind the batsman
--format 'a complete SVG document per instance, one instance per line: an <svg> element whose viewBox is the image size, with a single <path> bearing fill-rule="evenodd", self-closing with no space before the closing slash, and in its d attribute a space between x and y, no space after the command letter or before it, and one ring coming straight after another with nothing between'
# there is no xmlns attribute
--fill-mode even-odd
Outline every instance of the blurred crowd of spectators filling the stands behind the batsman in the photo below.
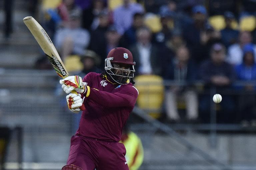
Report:
<svg viewBox="0 0 256 170"><path fill-rule="evenodd" d="M107 53L128 48L136 76L186 82L166 86L169 122L209 123L210 89L222 94L217 123L256 126L256 2L253 0L44 0L40 22L65 65L81 76L104 69ZM78 64L80 62L80 65ZM37 68L49 68L38 60ZM203 81L204 93L195 82ZM136 84L135 84L136 85ZM246 92L246 95L232 95ZM208 93L207 93L208 92ZM237 97L239 96L239 97ZM186 105L180 116L177 101Z"/></svg>

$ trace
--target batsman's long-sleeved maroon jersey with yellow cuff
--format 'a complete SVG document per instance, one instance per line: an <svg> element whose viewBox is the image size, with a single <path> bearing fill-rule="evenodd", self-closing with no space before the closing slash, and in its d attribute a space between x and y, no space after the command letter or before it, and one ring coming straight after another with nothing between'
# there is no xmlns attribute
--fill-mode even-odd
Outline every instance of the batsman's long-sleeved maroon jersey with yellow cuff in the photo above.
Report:
<svg viewBox="0 0 256 170"><path fill-rule="evenodd" d="M105 141L120 141L124 125L134 108L138 90L132 83L111 83L107 77L91 72L83 78L87 91L76 135Z"/></svg>

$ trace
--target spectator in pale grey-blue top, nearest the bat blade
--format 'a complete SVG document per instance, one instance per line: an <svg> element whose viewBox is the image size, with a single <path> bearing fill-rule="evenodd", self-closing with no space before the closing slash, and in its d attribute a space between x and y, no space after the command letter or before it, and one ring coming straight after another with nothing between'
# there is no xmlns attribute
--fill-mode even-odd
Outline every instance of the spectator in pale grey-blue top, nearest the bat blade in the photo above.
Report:
<svg viewBox="0 0 256 170"><path fill-rule="evenodd" d="M81 28L81 20L76 13L71 14L67 26L58 29L55 35L55 46L63 58L70 54L82 55L90 41L90 34Z"/></svg>

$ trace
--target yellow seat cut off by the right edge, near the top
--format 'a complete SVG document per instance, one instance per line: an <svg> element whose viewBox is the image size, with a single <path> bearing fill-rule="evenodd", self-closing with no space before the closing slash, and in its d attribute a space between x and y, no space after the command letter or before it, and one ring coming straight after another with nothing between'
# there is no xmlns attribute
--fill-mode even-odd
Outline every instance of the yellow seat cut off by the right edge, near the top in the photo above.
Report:
<svg viewBox="0 0 256 170"><path fill-rule="evenodd" d="M253 31L256 27L256 18L247 16L240 19L240 31Z"/></svg>

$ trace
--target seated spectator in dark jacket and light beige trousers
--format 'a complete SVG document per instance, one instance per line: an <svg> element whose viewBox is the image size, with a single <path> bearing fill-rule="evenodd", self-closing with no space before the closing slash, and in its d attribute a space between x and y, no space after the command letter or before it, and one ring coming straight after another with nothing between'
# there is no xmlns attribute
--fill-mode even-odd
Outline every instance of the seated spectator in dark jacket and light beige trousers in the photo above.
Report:
<svg viewBox="0 0 256 170"><path fill-rule="evenodd" d="M195 122L198 118L198 99L197 94L190 85L196 80L197 70L195 64L189 56L189 50L186 46L180 46L176 51L176 57L166 68L164 78L174 80L177 83L187 82L188 86L171 86L166 91L166 113L171 121L179 122L180 116L177 109L177 98L181 97L186 104L187 120Z"/></svg>

